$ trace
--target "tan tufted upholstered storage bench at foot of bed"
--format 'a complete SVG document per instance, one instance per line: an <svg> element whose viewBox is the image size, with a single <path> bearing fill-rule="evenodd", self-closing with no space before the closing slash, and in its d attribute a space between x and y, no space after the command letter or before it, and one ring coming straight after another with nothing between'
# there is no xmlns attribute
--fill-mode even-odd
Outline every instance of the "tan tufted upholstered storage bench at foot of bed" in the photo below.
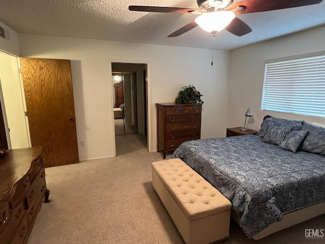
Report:
<svg viewBox="0 0 325 244"><path fill-rule="evenodd" d="M232 204L180 159L151 164L152 186L187 244L229 237Z"/></svg>

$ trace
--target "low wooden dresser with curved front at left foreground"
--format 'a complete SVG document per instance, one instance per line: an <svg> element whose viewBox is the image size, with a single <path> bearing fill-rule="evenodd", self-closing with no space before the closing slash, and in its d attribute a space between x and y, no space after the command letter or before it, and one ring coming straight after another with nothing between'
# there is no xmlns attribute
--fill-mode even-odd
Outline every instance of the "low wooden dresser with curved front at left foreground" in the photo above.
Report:
<svg viewBox="0 0 325 244"><path fill-rule="evenodd" d="M42 201L49 202L42 147L7 150L0 159L0 243L26 243Z"/></svg>

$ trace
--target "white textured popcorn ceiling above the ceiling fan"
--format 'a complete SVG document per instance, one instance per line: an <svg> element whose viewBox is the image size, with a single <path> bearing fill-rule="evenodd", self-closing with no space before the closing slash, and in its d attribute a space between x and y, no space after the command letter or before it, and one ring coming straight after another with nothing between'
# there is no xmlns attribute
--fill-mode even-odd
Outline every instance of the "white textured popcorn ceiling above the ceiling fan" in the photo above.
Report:
<svg viewBox="0 0 325 244"><path fill-rule="evenodd" d="M271 1L271 0L270 0ZM295 0L293 0L295 1ZM240 2L240 1L234 1ZM17 33L232 50L325 24L320 4L241 14L252 32L212 35L196 27L167 36L196 18L193 14L132 12L129 5L198 8L195 0L0 0L0 21Z"/></svg>

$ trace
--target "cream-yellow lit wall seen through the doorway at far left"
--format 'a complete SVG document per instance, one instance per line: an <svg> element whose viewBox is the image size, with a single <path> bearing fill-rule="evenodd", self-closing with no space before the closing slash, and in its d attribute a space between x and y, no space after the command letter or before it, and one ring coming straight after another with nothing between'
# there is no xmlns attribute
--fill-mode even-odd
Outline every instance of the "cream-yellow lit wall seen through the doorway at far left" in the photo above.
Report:
<svg viewBox="0 0 325 244"><path fill-rule="evenodd" d="M0 80L11 149L29 147L17 58L0 52Z"/></svg>

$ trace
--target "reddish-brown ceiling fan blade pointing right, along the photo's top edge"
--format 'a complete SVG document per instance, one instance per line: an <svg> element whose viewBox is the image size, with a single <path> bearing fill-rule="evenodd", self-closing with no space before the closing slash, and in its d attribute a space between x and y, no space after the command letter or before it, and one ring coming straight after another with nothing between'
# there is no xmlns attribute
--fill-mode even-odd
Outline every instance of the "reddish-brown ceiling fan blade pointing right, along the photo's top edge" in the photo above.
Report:
<svg viewBox="0 0 325 244"><path fill-rule="evenodd" d="M288 9L313 4L319 4L322 0L246 0L234 3L228 6L228 10L237 14L248 14L256 12L264 12L277 9ZM240 7L244 7L240 9ZM237 12L236 9L239 9Z"/></svg>

